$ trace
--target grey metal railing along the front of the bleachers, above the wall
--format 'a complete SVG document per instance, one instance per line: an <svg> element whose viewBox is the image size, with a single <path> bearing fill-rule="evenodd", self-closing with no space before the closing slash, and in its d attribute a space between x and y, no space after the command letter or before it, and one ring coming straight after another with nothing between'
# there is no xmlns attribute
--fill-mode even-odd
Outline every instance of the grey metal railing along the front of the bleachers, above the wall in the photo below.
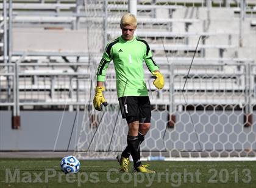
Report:
<svg viewBox="0 0 256 188"><path fill-rule="evenodd" d="M165 87L156 90L145 67L152 105L166 105L175 111L186 106L182 87L190 63L163 63ZM20 107L91 106L96 84L95 70L87 63L20 63L0 64L0 106ZM185 87L188 105L241 106L248 112L256 105L256 65L250 61L222 64L194 62ZM105 98L117 104L113 65L108 67Z"/></svg>

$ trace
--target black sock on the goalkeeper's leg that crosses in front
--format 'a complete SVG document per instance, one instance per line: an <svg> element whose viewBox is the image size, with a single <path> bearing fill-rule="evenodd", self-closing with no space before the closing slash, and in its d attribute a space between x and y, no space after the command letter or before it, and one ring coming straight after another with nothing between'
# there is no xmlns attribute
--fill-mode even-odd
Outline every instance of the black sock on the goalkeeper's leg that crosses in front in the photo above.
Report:
<svg viewBox="0 0 256 188"><path fill-rule="evenodd" d="M138 139L138 136L127 135L127 144L130 149L130 154L132 155L133 166L140 166L140 140Z"/></svg>

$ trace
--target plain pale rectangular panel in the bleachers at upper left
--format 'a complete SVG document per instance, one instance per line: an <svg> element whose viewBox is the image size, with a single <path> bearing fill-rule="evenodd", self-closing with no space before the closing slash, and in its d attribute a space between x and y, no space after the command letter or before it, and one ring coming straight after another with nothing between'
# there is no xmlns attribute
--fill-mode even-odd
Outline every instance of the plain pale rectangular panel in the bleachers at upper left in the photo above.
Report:
<svg viewBox="0 0 256 188"><path fill-rule="evenodd" d="M87 53L85 30L13 29L15 52Z"/></svg>

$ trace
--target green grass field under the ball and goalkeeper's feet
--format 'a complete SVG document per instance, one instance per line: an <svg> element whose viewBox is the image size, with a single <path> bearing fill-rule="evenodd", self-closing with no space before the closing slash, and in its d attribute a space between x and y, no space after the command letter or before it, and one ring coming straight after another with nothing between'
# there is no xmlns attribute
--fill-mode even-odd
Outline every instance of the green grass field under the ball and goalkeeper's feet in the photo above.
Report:
<svg viewBox="0 0 256 188"><path fill-rule="evenodd" d="M150 161L157 173L142 174L120 173L116 161L80 161L75 175L62 173L59 163L0 159L0 187L256 187L255 162Z"/></svg>

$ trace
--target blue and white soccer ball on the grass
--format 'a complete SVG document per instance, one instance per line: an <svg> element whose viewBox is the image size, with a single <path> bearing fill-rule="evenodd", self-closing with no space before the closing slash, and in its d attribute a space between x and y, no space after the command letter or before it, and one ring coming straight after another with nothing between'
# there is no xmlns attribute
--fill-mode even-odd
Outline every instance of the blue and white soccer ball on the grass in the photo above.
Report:
<svg viewBox="0 0 256 188"><path fill-rule="evenodd" d="M77 173L80 168L79 160L73 156L64 156L62 161L60 161L60 169L64 173Z"/></svg>

